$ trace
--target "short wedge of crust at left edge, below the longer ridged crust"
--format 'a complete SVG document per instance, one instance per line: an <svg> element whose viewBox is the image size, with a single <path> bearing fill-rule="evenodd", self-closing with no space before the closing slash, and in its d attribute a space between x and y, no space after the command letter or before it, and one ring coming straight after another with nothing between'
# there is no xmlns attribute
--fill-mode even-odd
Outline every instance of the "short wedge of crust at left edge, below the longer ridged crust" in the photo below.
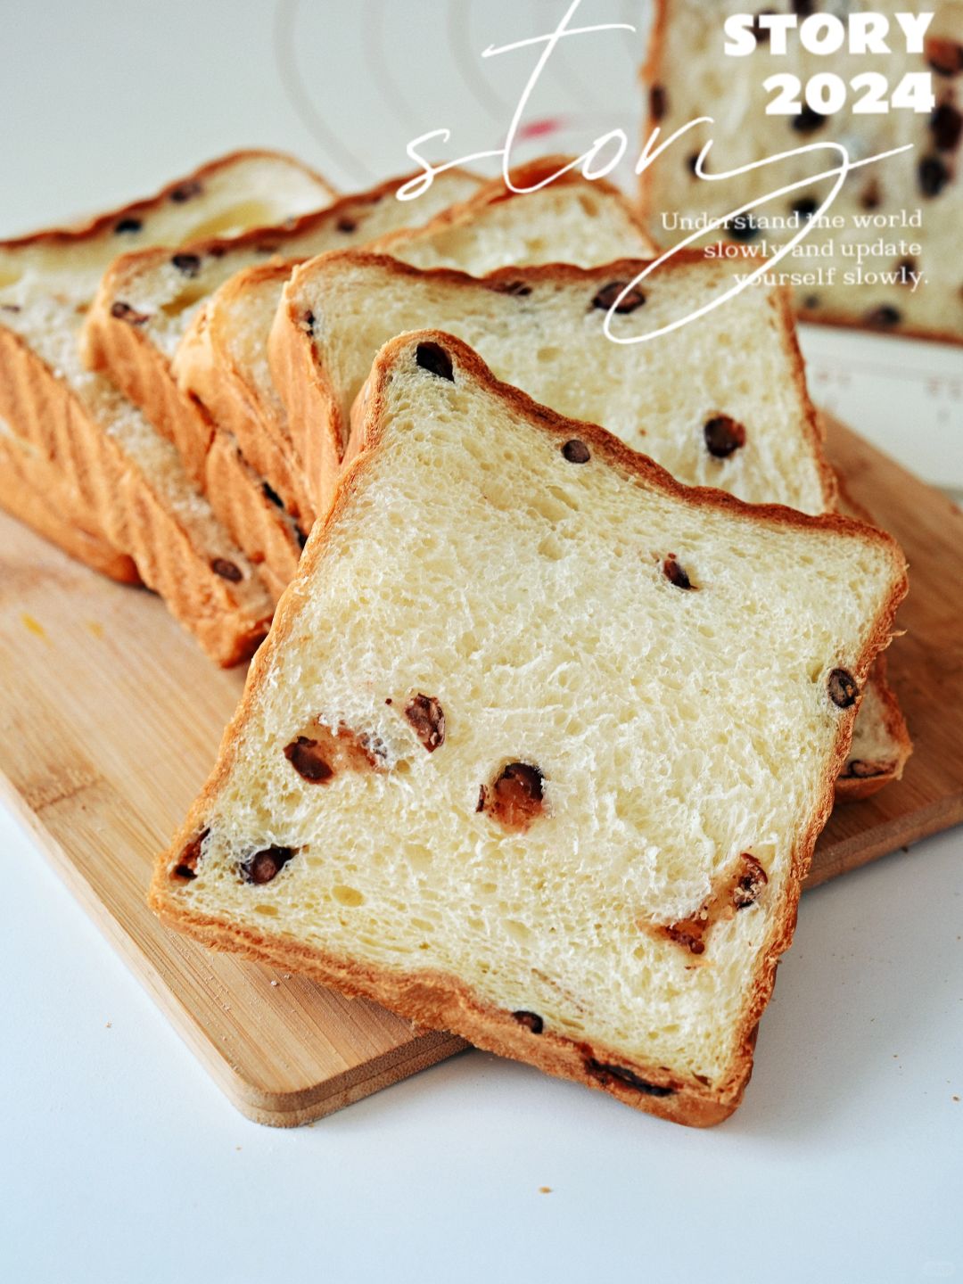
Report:
<svg viewBox="0 0 963 1284"><path fill-rule="evenodd" d="M0 508L91 570L118 584L140 584L134 559L119 552L103 535L86 530L82 514L72 516L76 507L60 476L46 460L33 457L17 442L0 437Z"/></svg>

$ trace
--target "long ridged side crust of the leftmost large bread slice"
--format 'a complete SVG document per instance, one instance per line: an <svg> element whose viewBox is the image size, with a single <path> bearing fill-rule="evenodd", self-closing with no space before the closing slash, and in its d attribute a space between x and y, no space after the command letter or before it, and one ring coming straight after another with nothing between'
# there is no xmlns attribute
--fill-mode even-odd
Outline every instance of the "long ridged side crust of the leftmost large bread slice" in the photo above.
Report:
<svg viewBox="0 0 963 1284"><path fill-rule="evenodd" d="M166 600L217 664L245 660L270 624L270 602L222 577L149 479L103 431L76 393L12 330L0 329L0 411L50 461L76 496L76 516L134 559L145 584ZM245 601L245 597L252 601Z"/></svg>

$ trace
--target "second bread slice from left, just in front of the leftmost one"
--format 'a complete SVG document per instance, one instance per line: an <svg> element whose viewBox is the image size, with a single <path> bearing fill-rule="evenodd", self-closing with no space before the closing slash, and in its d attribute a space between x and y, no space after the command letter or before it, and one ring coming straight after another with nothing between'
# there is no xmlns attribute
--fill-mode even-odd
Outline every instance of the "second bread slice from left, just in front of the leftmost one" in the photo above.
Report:
<svg viewBox="0 0 963 1284"><path fill-rule="evenodd" d="M335 248L363 245L389 230L431 218L480 182L456 169L422 199L395 200L394 193L404 181L393 178L334 203L325 199L322 209L273 227L252 227L230 240L212 236L181 245L176 253L155 245L125 254L104 273L85 321L85 363L107 374L173 442L195 487L208 496L218 519L259 566L272 593L290 578L289 568L297 565L300 553L300 532L309 529L313 520L306 510L302 479L285 461L282 449L252 421L238 380L218 371L200 386L181 385L172 360L187 333L187 353L204 348L205 300L243 268L257 265L258 271L276 275L280 298L294 262ZM252 331L257 336L257 300L238 324L239 342L250 342ZM230 433L236 443L218 442L212 465L208 455L217 429ZM238 446L241 465L227 469ZM280 503L266 498L266 480Z"/></svg>

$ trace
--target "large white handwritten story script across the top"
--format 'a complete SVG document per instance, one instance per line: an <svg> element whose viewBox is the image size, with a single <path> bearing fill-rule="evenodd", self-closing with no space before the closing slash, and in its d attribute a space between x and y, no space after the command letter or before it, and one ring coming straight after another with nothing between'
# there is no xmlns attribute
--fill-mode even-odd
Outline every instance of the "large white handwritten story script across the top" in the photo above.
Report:
<svg viewBox="0 0 963 1284"><path fill-rule="evenodd" d="M634 32L637 30L632 23L627 22L601 23L593 27L573 27L570 26L570 23L575 17L575 13L578 12L580 4L582 0L573 0L565 15L562 17L561 22L555 28L555 31L544 36L532 36L526 40L517 40L508 45L498 45L498 46L489 45L488 49L482 51L483 58L497 58L499 54L507 54L516 49L524 49L528 46L535 48L538 45L543 46L538 56L538 62L535 63L532 74L528 80L528 83L521 91L521 96L515 108L515 113L512 114L511 123L508 125L508 132L505 139L505 145L488 152L473 152L469 153L467 155L458 157L456 160L447 160L443 164L433 164L430 160L425 159L420 149L426 143L435 143L438 140L440 140L442 143L448 143L451 140L451 130L446 128L430 130L428 134L422 134L419 137L412 139L407 146L407 154L412 160L415 160L417 164L422 167L422 172L416 175L413 178L410 178L408 182L406 182L402 187L398 189L397 196L399 200L416 199L417 196L421 195L422 191L428 191L428 189L431 186L431 182L435 178L435 175L444 173L446 169L452 169L456 166L467 164L471 160L484 160L490 157L501 157L502 177L505 180L505 184L511 191L516 191L519 194L524 194L526 191L538 191L541 187L546 187L548 184L553 182L556 178L561 177L564 173L569 173L573 169L580 169L586 178L602 178L606 175L611 173L611 171L621 162L629 145L629 140L625 135L625 131L619 128L610 130L607 134L600 135L597 139L594 139L592 146L587 152L577 157L574 160L564 166L561 169L556 171L556 173L550 175L547 178L542 178L541 182L534 184L532 187L517 187L512 182L511 177L511 154L512 154L512 148L515 146L515 140L519 131L519 126L521 123L521 118L524 116L528 101L532 96L532 92L548 63L548 59L552 56L552 53L555 51L560 41L568 40L573 36L589 36L603 31ZM656 126L652 130L648 139L646 140L646 144L642 148L638 160L636 162L636 173L637 175L643 173L650 164L657 160L664 152L666 152L683 135L688 134L690 130L693 130L698 125L714 125L714 123L715 122L711 116L700 116L696 119L690 121L687 125L683 125L681 128L675 130L674 134L669 135L669 137L664 139L661 143L659 141L659 135L661 130L659 128L659 126ZM842 190L842 185L845 184L851 171L862 169L864 166L873 164L877 160L883 160L887 157L898 155L901 152L909 152L912 150L912 148L913 144L908 143L904 146L892 148L889 152L880 152L876 155L864 157L862 160L851 160L847 149L841 143L808 143L804 146L794 148L788 152L779 152L776 155L764 158L763 160L754 160L750 164L738 166L734 169L727 169L722 172L716 171L714 173L707 173L705 169L705 162L713 149L713 140L710 139L702 146L702 150L698 153L698 159L696 160L695 166L696 176L698 178L705 180L706 182L723 182L727 178L733 178L737 175L747 173L751 169L763 169L767 166L778 164L781 160L786 160L790 157L804 155L806 152L823 152L827 154L827 162L832 160L835 163L828 164L828 167L820 171L819 173L809 175L806 178L802 178L797 182L787 184L782 187L777 187L763 196L758 196L755 200L749 200L745 204L737 205L734 209L731 209L728 213L722 214L718 218L700 221L700 226L691 235L678 241L678 244L673 245L672 249L665 250L663 254L660 254L659 258L647 262L645 268L636 277L633 277L633 280L625 284L624 289L621 290L619 297L614 300L612 306L609 308L606 313L605 317L606 338L609 338L612 343L619 343L619 344L646 343L650 339L657 339L660 335L669 334L673 330L678 330L683 325L687 325L690 321L695 321L697 317L705 316L707 312L711 312L715 308L722 307L723 303L733 298L736 294L740 294L742 290L747 289L750 285L758 281L763 275L772 272L776 265L778 265L783 258L786 258L786 256L791 254L792 250L796 248L796 245L799 245L802 240L805 240L809 232L819 225L819 221L826 213L826 211L829 209L832 203L836 200L836 196ZM747 214L750 211L756 209L759 205L764 205L768 202L774 200L777 196L782 196L788 193L796 191L800 187L811 187L814 182L818 182L822 178L835 178L835 182L832 184L832 187L823 199L822 204L814 211L811 218L802 222L801 226L799 227L799 231L796 231L790 238L790 240L787 240L783 245L781 245L770 258L763 259L759 267L756 267L747 276L740 276L736 280L736 284L732 285L723 294L719 294L709 303L704 304L701 308L697 308L696 311L690 312L686 316L679 317L678 320L670 322L669 325L664 325L657 330L650 330L646 334L636 334L636 335L612 334L611 330L612 318L618 313L619 306L621 304L623 299L625 299L627 295L629 295L632 290L634 290L651 272L657 271L663 263L668 262L681 249L684 249L687 245L691 245L693 241L705 236L706 232L715 231L716 229L723 227L740 214Z"/></svg>

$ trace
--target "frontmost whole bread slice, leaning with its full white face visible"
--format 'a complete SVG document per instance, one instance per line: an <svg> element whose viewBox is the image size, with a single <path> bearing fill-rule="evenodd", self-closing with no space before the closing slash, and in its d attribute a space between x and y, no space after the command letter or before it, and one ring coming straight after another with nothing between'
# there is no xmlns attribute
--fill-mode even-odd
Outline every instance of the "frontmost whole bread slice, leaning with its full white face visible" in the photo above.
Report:
<svg viewBox="0 0 963 1284"><path fill-rule="evenodd" d="M738 1104L905 592L841 516L687 489L392 340L152 903L641 1109Z"/></svg>

